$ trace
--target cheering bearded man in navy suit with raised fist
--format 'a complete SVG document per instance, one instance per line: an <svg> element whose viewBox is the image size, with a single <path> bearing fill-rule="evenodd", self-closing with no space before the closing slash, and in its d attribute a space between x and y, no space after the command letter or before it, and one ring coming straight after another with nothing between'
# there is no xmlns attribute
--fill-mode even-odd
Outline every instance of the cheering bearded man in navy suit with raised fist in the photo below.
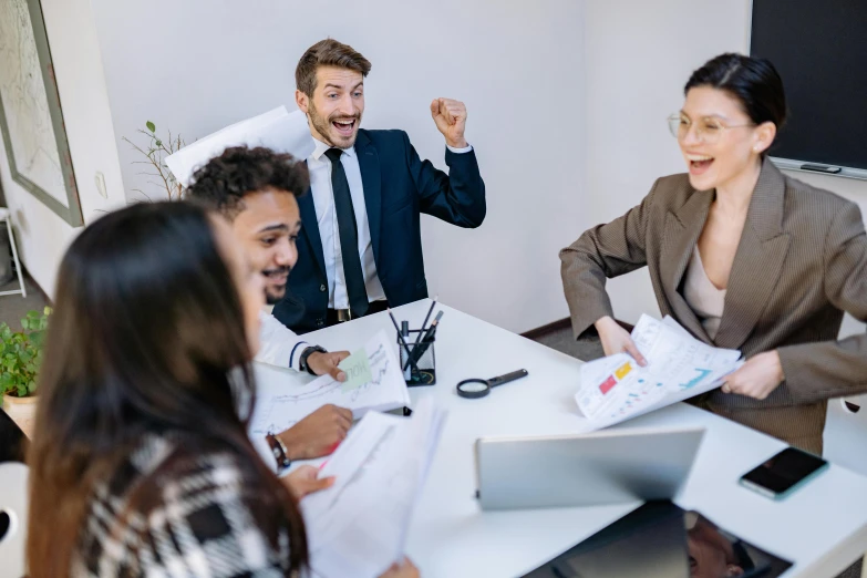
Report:
<svg viewBox="0 0 867 578"><path fill-rule="evenodd" d="M485 184L464 138L466 107L435 99L450 174L419 154L403 131L359 128L370 62L336 40L312 45L296 69L296 102L316 149L298 265L273 316L302 333L427 297L420 214L460 227L485 218ZM349 249L348 249L349 248Z"/></svg>

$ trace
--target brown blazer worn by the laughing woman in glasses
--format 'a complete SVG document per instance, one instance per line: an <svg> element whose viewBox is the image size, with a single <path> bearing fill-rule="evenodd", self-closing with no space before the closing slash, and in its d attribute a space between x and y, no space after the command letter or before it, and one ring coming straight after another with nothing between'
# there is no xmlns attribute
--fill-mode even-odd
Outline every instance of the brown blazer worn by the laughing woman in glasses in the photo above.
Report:
<svg viewBox="0 0 867 578"><path fill-rule="evenodd" d="M715 390L703 404L793 445L822 451L826 400L867 391L867 336L836 341L844 311L867 319L867 236L857 205L762 165L711 341L681 283L713 190L685 174L656 182L641 204L560 251L578 339L613 317L607 278L647 266L662 314L746 358L776 349L786 380L758 401Z"/></svg>

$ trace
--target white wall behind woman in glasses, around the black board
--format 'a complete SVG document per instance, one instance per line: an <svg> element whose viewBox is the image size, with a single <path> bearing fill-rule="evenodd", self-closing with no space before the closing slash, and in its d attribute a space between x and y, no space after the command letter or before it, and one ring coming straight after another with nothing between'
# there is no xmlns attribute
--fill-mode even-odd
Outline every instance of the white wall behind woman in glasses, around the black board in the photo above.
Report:
<svg viewBox="0 0 867 578"><path fill-rule="evenodd" d="M694 69L746 51L749 1L597 0L587 2L586 25L586 192L596 224L640 203L656 178L685 171L665 117L682 105ZM856 200L867 215L867 182L791 174ZM659 313L647 269L610 281L609 292L620 319ZM860 328L847 318L843 332Z"/></svg>

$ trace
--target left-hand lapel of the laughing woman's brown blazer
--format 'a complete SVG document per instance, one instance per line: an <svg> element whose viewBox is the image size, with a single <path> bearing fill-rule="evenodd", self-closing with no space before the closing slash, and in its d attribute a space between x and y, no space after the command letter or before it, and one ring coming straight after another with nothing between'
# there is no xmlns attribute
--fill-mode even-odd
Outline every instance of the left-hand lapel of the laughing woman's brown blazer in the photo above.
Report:
<svg viewBox="0 0 867 578"><path fill-rule="evenodd" d="M678 289L708 220L713 195L713 190L695 190L677 213L665 215L665 233L659 265L662 288L674 317L692 334L706 343L710 343L711 339Z"/></svg>

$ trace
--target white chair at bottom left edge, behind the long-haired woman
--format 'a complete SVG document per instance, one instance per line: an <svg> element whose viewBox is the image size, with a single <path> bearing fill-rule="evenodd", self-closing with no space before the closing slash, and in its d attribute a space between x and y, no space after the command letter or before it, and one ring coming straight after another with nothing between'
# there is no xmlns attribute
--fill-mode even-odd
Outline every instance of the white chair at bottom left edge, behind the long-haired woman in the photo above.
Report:
<svg viewBox="0 0 867 578"><path fill-rule="evenodd" d="M0 578L27 574L27 516L28 467L17 462L0 464Z"/></svg>

